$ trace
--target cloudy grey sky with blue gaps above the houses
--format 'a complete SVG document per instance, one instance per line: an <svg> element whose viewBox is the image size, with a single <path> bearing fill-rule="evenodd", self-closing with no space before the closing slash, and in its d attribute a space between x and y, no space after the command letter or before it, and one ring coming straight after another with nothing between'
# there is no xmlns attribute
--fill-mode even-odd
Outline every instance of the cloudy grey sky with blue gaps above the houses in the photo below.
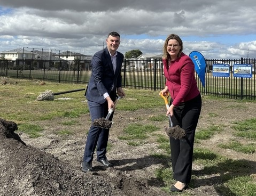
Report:
<svg viewBox="0 0 256 196"><path fill-rule="evenodd" d="M186 54L254 59L255 10L255 0L0 0L0 51L29 47L93 55L117 31L124 54L161 54L174 33Z"/></svg>

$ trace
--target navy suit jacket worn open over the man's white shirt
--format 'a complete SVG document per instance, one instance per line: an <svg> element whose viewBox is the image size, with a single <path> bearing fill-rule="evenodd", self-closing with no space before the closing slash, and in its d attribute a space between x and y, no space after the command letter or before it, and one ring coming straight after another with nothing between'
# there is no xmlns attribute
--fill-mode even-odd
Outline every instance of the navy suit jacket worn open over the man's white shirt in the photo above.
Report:
<svg viewBox="0 0 256 196"><path fill-rule="evenodd" d="M123 54L117 53L117 68L115 72L107 47L98 51L92 57L92 73L85 94L87 100L102 104L106 101L103 94L106 92L110 94L113 84L115 92L118 87L122 87L121 67Z"/></svg>

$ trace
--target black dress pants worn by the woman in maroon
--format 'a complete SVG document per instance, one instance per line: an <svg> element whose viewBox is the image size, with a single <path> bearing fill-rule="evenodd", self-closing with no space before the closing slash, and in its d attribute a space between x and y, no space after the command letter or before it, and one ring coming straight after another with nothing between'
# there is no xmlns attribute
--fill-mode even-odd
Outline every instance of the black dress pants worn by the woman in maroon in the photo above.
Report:
<svg viewBox="0 0 256 196"><path fill-rule="evenodd" d="M201 95L199 94L194 99L182 102L179 107L175 107L172 116L173 126L179 125L186 133L185 138L180 140L170 137L173 177L185 184L188 184L191 179L193 144L200 112Z"/></svg>

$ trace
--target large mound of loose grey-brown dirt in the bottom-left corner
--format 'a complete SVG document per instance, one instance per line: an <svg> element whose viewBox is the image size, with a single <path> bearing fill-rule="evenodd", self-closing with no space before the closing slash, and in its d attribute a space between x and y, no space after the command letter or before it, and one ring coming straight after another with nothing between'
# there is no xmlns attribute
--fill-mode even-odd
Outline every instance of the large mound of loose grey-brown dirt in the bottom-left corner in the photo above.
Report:
<svg viewBox="0 0 256 196"><path fill-rule="evenodd" d="M150 192L145 184L122 173L104 178L72 169L51 154L26 145L14 133L17 129L13 121L0 118L0 195L166 195Z"/></svg>

